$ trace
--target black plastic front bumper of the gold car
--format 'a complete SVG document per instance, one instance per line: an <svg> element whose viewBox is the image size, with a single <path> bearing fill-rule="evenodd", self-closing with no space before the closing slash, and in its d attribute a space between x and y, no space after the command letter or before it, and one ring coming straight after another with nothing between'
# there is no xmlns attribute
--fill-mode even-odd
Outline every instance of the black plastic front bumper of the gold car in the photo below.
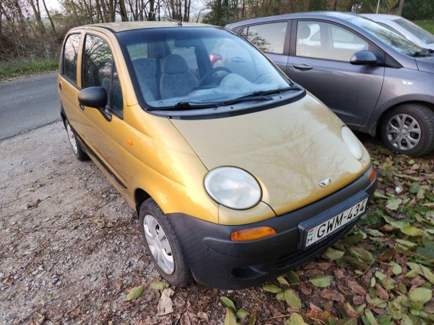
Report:
<svg viewBox="0 0 434 325"><path fill-rule="evenodd" d="M220 289L252 287L305 263L344 236L356 220L302 250L303 229L300 223L320 224L366 195L372 195L377 180L370 182L371 168L330 196L253 224L213 224L182 213L168 214L167 217L197 282ZM245 242L230 240L233 231L255 226L270 226L276 235Z"/></svg>

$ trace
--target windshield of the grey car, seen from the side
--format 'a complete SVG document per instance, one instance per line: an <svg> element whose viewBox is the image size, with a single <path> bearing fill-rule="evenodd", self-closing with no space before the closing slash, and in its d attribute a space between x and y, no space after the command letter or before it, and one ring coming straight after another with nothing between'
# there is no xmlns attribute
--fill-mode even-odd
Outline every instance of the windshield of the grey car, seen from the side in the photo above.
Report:
<svg viewBox="0 0 434 325"><path fill-rule="evenodd" d="M393 48L393 50L396 50L403 55L418 56L426 52L425 49L401 37L394 31L391 31L391 29L381 26L381 24L377 24L377 22L373 22L372 20L363 17L353 17L349 19L349 22L365 29L369 34L375 36L380 41L383 41Z"/></svg>

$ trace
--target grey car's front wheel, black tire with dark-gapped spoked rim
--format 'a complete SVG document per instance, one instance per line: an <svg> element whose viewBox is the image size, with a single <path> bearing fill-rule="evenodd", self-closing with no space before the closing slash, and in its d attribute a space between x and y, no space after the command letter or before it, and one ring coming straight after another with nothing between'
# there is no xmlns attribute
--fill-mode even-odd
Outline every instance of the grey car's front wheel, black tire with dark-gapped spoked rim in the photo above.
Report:
<svg viewBox="0 0 434 325"><path fill-rule="evenodd" d="M390 150L418 157L434 149L434 112L426 106L398 106L386 113L380 127L384 145Z"/></svg>

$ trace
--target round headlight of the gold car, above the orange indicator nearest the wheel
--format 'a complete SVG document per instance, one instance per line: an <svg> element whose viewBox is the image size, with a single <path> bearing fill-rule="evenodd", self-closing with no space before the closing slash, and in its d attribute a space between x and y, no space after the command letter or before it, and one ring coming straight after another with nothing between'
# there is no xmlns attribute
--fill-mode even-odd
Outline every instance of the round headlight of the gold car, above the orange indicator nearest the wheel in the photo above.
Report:
<svg viewBox="0 0 434 325"><path fill-rule="evenodd" d="M215 168L205 176L204 185L214 201L231 209L252 208L262 197L258 181L241 168Z"/></svg>

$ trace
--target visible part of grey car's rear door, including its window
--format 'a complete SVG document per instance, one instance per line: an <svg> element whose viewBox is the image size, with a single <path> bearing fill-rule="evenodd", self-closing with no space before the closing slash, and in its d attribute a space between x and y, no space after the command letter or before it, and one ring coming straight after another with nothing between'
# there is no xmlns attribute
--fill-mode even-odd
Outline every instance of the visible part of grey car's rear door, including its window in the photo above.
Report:
<svg viewBox="0 0 434 325"><path fill-rule="evenodd" d="M281 71L288 64L290 23L288 20L253 24L241 30L241 36L265 53Z"/></svg>

